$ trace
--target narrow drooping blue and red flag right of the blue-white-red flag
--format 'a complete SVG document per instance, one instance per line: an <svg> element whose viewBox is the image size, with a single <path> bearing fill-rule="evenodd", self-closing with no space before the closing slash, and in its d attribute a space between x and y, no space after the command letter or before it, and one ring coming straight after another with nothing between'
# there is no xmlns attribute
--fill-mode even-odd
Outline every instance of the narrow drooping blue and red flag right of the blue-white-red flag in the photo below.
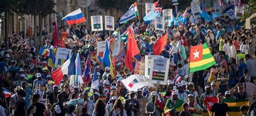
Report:
<svg viewBox="0 0 256 116"><path fill-rule="evenodd" d="M90 74L91 74L91 52L89 52L87 56L85 67L84 67L84 83L86 85L91 81Z"/></svg>

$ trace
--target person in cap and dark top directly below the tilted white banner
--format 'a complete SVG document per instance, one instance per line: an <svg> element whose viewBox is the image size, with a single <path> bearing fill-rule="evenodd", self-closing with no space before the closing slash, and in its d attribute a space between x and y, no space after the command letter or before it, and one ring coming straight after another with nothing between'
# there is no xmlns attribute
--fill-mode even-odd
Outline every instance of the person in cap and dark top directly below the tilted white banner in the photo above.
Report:
<svg viewBox="0 0 256 116"><path fill-rule="evenodd" d="M139 112L139 103L134 99L135 93L131 92L129 94L129 99L125 100L124 109L126 110L127 115L136 115Z"/></svg>

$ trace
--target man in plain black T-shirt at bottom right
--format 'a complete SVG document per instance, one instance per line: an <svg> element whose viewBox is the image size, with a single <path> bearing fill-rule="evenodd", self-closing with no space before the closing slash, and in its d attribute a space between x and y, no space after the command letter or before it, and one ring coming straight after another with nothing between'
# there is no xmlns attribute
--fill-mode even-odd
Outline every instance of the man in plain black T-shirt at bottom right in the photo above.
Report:
<svg viewBox="0 0 256 116"><path fill-rule="evenodd" d="M222 116L222 115L229 115L228 111L230 111L230 108L226 103L223 102L224 95L219 93L217 95L218 101L217 103L213 104L211 108L211 116Z"/></svg>

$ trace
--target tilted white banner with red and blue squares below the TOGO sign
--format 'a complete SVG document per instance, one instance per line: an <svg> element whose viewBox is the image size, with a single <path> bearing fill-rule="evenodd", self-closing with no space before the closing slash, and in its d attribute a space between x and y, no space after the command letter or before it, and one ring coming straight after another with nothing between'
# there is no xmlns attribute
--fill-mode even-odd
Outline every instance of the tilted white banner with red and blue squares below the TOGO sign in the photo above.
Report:
<svg viewBox="0 0 256 116"><path fill-rule="evenodd" d="M138 88L142 88L145 86L154 87L154 84L150 83L149 79L138 74L129 76L128 78L122 80L122 83L126 90L128 90L129 92L137 91Z"/></svg>

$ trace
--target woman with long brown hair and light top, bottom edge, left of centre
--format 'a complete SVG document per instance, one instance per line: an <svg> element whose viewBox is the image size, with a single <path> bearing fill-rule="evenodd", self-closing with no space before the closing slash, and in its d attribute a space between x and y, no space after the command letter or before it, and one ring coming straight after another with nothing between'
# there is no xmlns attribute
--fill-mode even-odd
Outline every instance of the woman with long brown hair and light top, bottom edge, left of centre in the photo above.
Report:
<svg viewBox="0 0 256 116"><path fill-rule="evenodd" d="M113 108L110 111L110 116L127 116L120 99L117 99L116 102L114 102Z"/></svg>

